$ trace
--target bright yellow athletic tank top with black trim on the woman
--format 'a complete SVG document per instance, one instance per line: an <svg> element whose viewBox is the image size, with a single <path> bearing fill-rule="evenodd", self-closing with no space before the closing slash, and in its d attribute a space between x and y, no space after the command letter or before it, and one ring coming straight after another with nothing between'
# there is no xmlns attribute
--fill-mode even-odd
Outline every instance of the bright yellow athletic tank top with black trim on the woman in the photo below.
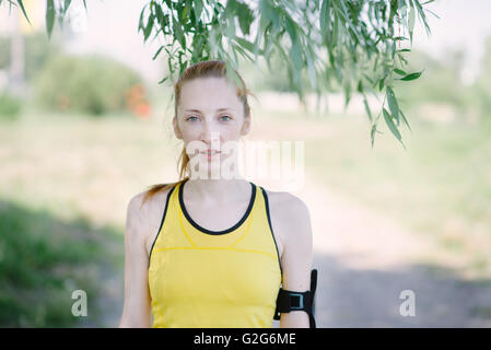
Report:
<svg viewBox="0 0 491 350"><path fill-rule="evenodd" d="M265 189L249 183L242 219L210 231L186 211L186 182L168 191L150 250L152 327L272 327L282 268Z"/></svg>

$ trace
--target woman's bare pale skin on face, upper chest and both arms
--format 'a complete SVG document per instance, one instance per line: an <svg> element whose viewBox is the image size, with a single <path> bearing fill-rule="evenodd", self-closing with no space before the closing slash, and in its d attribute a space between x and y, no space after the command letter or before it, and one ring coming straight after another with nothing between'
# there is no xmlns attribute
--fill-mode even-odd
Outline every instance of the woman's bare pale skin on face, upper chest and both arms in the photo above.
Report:
<svg viewBox="0 0 491 350"><path fill-rule="evenodd" d="M218 108L226 110L218 112ZM199 109L188 112L187 109ZM177 116L173 127L184 144L198 142L211 148L213 132L220 144L237 141L250 130L252 117L244 116L244 107L234 85L223 78L188 81L182 86ZM199 156L189 154L189 158ZM202 155L201 155L202 156ZM223 162L226 156L220 156ZM212 162L213 163L213 162ZM190 184L188 184L190 185ZM220 185L221 186L221 185ZM195 221L210 230L230 228L244 213L250 185L238 179L234 191L225 200L186 198L186 209ZM151 299L148 285L148 264L152 243L162 219L162 208L168 190L151 197L143 206L144 192L131 198L127 208L125 230L125 303L119 327L150 327ZM186 191L185 191L186 192ZM191 191L192 192L192 191ZM236 194L235 194L236 192ZM309 288L313 259L312 229L305 203L285 191L267 190L271 225L283 269L283 289L303 292ZM236 200L237 205L233 206ZM212 209L210 211L208 209ZM210 214L218 212L219 214ZM280 327L308 328L308 315L296 311L281 314Z"/></svg>

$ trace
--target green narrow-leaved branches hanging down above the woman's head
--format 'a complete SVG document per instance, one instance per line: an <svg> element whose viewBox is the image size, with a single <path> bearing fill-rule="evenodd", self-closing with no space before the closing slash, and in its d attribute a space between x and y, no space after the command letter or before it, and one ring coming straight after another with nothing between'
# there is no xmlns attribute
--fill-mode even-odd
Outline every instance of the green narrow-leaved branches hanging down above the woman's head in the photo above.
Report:
<svg viewBox="0 0 491 350"><path fill-rule="evenodd" d="M2 2L17 4L27 18L22 0ZM332 83L342 86L346 106L353 93L360 93L371 121L372 147L375 133L381 132L381 116L404 145L399 126L404 122L409 128L409 124L394 83L416 80L422 73L405 70L405 52L411 50L417 19L431 33L426 12L434 13L425 8L431 2L434 0L151 0L141 10L138 31L144 42L159 37L164 43L153 56L167 54L168 74L161 83L175 81L175 74L207 59L225 61L233 68L227 69L230 77L236 80L233 70L238 68L238 55L256 63L264 58L270 69L270 58L277 54L302 101L303 72L318 98ZM54 0L46 1L48 35L70 3L59 1L57 7ZM86 9L85 0L83 4ZM377 115L372 113L367 94L377 100L379 94L384 96Z"/></svg>

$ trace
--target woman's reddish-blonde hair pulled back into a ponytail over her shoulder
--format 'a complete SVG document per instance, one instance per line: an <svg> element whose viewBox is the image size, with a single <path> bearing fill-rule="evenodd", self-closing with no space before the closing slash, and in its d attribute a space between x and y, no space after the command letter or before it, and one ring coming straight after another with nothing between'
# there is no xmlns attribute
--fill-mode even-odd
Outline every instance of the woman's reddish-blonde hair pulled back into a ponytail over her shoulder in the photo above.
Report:
<svg viewBox="0 0 491 350"><path fill-rule="evenodd" d="M246 85L244 83L244 80L238 74L238 72L236 70L234 70L233 73L235 73L236 77L238 77L238 80L241 82L242 86L237 86L236 85L237 97L243 103L244 117L248 118L248 117L250 117L250 106L249 106L249 103L247 102L247 95L250 94L250 95L254 96L254 94L246 88ZM201 62L198 62L198 63L195 63L195 65L188 67L179 75L177 82L174 84L174 95L175 95L174 113L175 113L175 117L176 118L177 118L177 106L178 106L179 101L180 101L180 91L182 91L183 84L185 82L191 81L194 79L199 79L199 78L225 78L225 79L229 80L225 62L224 61L220 61L220 60L201 61ZM256 96L254 96L254 97L256 97ZM187 164L188 163L189 163L189 156L186 153L186 147L183 147L183 151L180 152L179 160L177 162L177 170L178 170L178 173L179 173L179 180L175 182L175 183L171 183L171 184L157 184L157 185L150 186L150 188L144 194L142 205L148 199L153 197L155 194L161 192L161 191L165 191L168 188L177 186L178 184L184 183L185 180L187 180L189 178L189 176L187 174ZM179 164L180 164L180 166L179 166Z"/></svg>

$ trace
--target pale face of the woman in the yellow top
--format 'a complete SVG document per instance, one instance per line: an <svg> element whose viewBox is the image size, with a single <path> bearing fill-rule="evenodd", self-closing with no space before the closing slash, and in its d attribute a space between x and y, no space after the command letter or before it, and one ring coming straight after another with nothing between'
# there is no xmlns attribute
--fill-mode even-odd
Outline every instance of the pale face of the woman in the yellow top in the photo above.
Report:
<svg viewBox="0 0 491 350"><path fill-rule="evenodd" d="M224 78L195 79L183 84L174 131L185 147L189 142L203 150L220 150L227 141L238 141L250 128L250 117L245 118L244 105L235 86ZM192 147L192 150L196 148ZM192 154L188 154L192 159ZM201 154L213 162L214 155ZM221 162L227 155L222 153Z"/></svg>

